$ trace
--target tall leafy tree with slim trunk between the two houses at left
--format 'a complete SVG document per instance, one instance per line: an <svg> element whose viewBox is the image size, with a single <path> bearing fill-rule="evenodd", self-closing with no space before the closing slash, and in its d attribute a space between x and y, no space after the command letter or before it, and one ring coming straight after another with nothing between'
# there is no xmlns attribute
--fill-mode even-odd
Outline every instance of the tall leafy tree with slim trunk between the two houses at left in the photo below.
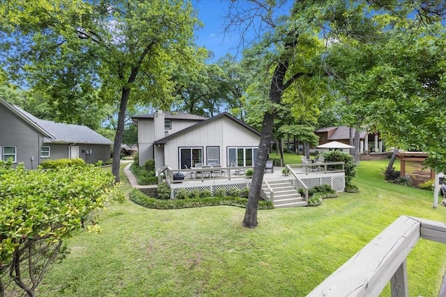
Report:
<svg viewBox="0 0 446 297"><path fill-rule="evenodd" d="M8 51L12 57L8 63L13 65L10 70L20 70L16 73L26 81L50 83L51 79L40 79L40 69L46 67L49 73L45 77L52 77L68 70L68 63L76 70L70 72L76 83L61 83L61 88L100 88L103 102L119 111L112 166L118 182L129 102L170 105L174 70L201 63L202 54L192 38L198 20L190 3L179 0L77 1L80 8L65 2L40 1L43 5L38 11L21 1L11 2L5 12L10 19L15 20L17 10L25 13L17 30L8 31L9 38L3 39L3 44L13 49ZM54 12L54 7L63 14ZM27 10L34 14L26 15ZM26 22L30 18L31 22ZM76 67L79 61L82 67Z"/></svg>

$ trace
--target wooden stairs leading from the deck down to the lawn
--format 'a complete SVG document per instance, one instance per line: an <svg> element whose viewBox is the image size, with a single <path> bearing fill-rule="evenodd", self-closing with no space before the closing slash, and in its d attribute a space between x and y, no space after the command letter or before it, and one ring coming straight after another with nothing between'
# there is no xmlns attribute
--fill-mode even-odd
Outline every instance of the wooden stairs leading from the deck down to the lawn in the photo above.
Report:
<svg viewBox="0 0 446 297"><path fill-rule="evenodd" d="M300 195L298 190L294 188L294 186L286 181L286 180L275 180L268 181L270 188L274 193L273 204L274 207L306 207L307 202ZM266 185L266 182L263 181L262 189L261 189L261 198L265 200L270 200L270 190Z"/></svg>

